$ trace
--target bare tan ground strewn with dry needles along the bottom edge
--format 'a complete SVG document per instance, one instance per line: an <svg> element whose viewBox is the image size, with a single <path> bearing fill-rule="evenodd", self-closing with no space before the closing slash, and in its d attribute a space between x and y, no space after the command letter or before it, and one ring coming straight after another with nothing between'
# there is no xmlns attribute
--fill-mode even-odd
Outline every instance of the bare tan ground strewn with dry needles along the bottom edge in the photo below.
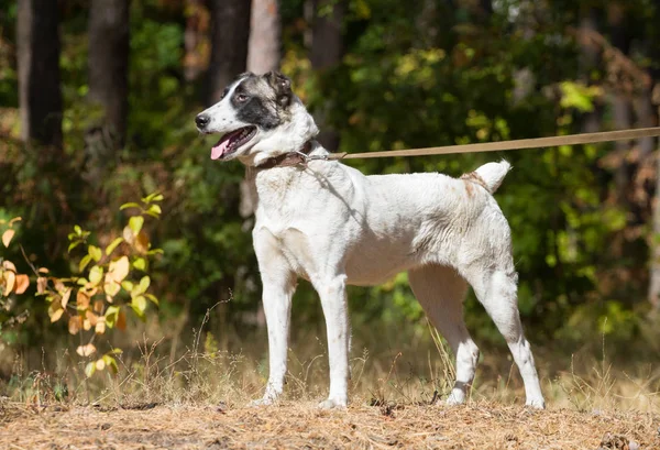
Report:
<svg viewBox="0 0 660 450"><path fill-rule="evenodd" d="M660 416L461 407L133 405L0 409L0 449L660 449ZM608 435L609 433L609 435Z"/></svg>

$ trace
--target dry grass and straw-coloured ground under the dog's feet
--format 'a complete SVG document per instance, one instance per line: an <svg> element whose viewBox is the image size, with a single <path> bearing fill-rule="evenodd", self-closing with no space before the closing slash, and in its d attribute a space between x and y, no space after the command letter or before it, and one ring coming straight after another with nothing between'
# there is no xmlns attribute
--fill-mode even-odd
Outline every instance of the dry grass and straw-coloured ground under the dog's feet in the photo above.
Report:
<svg viewBox="0 0 660 450"><path fill-rule="evenodd" d="M549 410L532 411L522 406L521 381L506 353L487 352L466 406L430 406L453 378L451 356L432 336L354 355L351 406L332 411L316 407L328 387L321 339L292 351L286 399L262 408L246 405L265 384L263 343L261 353L246 355L196 334L175 355L143 337L136 351L122 355L118 376L90 382L84 363L63 355L57 371L19 374L20 383L6 389L0 449L660 450L657 369L615 367L593 355L556 359L563 371L540 364ZM57 394L63 385L64 397ZM622 439L601 446L606 433Z"/></svg>

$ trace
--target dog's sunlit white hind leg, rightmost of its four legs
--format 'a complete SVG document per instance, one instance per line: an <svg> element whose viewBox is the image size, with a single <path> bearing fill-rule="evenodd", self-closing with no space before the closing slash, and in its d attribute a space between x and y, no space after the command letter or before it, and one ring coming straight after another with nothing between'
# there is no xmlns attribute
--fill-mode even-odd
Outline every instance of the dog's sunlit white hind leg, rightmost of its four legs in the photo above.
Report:
<svg viewBox="0 0 660 450"><path fill-rule="evenodd" d="M514 361L516 361L525 384L526 404L543 409L546 400L541 393L534 355L529 342L525 339L520 314L518 312L517 274L513 267L510 270L486 272L479 267L466 271L465 276L474 288L476 298L504 336L514 355Z"/></svg>

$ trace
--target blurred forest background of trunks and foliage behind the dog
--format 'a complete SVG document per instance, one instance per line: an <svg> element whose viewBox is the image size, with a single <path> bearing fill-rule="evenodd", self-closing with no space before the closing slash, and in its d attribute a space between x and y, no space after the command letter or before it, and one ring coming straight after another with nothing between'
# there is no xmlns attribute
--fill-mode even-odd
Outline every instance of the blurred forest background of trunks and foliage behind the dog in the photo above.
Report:
<svg viewBox="0 0 660 450"><path fill-rule="evenodd" d="M211 351L253 361L263 380L244 167L211 162L215 139L194 124L229 81L282 70L320 141L342 152L653 127L659 24L658 0L0 0L0 219L22 217L14 240L25 257L66 276L80 260L67 253L75 224L108 245L125 223L121 204L162 193L163 220L146 226L164 250L150 266L160 308L111 339L160 340L172 361L201 336ZM350 164L458 176L506 157L514 171L496 198L543 376L595 354L650 367L657 385L658 151L645 139ZM0 249L29 272L20 246ZM354 354L387 372L402 353L403 371L429 375L435 344L405 274L351 288L350 305ZM46 310L34 286L3 301L1 380L76 366L62 349L77 338ZM506 354L472 294L466 316L482 350ZM293 320L293 351L324 354L305 283ZM494 371L506 375L505 364Z"/></svg>

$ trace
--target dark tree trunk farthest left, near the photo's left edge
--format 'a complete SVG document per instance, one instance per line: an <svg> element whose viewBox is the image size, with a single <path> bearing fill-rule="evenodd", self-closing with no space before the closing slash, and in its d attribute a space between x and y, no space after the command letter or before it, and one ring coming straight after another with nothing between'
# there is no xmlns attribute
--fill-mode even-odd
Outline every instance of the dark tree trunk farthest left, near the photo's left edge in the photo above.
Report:
<svg viewBox="0 0 660 450"><path fill-rule="evenodd" d="M19 0L16 42L21 138L62 147L59 14L54 0Z"/></svg>

